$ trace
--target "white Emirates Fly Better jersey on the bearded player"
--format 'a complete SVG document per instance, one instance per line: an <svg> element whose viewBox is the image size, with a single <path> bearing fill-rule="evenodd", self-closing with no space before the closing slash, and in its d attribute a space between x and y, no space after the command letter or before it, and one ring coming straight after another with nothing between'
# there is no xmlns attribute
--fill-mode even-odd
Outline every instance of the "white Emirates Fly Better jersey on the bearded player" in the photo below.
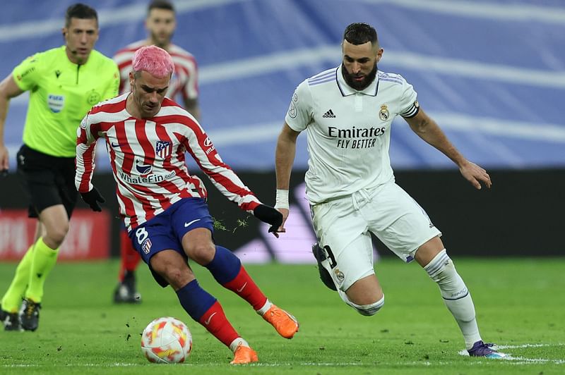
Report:
<svg viewBox="0 0 565 375"><path fill-rule="evenodd" d="M297 132L307 130L311 204L326 202L394 180L388 147L391 123L416 116L417 94L398 74L377 71L365 90L352 89L341 65L304 80L285 117Z"/></svg>

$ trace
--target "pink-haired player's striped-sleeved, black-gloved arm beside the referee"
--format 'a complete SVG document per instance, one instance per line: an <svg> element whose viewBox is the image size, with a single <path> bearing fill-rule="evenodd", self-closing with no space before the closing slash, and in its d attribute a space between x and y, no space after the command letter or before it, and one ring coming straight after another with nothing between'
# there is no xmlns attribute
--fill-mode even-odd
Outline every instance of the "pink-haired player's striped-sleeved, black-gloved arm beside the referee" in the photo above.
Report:
<svg viewBox="0 0 565 375"><path fill-rule="evenodd" d="M96 167L94 163L96 140L100 127L90 123L89 115L90 113L87 113L76 131L75 186L93 211L102 211L98 203L104 203L105 199L92 183Z"/></svg>

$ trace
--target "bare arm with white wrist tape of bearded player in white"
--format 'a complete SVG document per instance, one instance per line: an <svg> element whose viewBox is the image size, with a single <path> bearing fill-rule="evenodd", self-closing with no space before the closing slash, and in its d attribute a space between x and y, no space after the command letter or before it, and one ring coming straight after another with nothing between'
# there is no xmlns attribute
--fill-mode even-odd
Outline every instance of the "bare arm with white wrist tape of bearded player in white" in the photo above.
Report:
<svg viewBox="0 0 565 375"><path fill-rule="evenodd" d="M300 132L292 130L285 122L283 129L277 139L277 149L275 151L275 171L277 175L277 198L275 209L283 214L283 224L278 229L285 232L285 221L289 214L288 190L290 187L290 173L292 164L295 162L296 140Z"/></svg>

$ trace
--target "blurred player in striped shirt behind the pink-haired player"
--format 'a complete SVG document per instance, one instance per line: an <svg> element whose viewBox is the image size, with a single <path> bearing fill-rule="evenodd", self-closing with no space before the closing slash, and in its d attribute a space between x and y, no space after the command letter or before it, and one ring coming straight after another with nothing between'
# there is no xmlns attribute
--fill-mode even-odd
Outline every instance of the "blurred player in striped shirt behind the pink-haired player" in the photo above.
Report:
<svg viewBox="0 0 565 375"><path fill-rule="evenodd" d="M120 72L120 94L129 92L129 72L133 54L143 46L156 45L168 51L174 63L174 73L169 82L167 97L182 99L184 109L189 111L197 120L200 119L198 107L198 66L196 59L188 51L172 43L172 36L177 26L174 6L166 0L151 1L147 8L145 28L148 37L134 42L121 49L114 56ZM139 264L139 254L131 247L127 231L122 228L120 234L121 266L119 283L114 290L114 302L141 302L141 294L136 287L135 271Z"/></svg>

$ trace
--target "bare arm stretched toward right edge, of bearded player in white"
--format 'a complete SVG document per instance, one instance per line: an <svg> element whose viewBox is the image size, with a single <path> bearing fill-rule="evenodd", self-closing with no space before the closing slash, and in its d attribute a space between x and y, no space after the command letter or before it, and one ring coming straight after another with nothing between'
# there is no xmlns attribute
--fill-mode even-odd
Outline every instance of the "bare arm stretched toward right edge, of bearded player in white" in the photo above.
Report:
<svg viewBox="0 0 565 375"><path fill-rule="evenodd" d="M443 130L439 128L439 125L437 125L424 110L420 109L416 116L404 119L408 125L410 125L412 131L422 138L422 140L434 146L451 159L453 163L459 167L459 171L471 185L477 189L481 188L481 183L484 183L486 187L491 187L491 180L487 171L465 159L465 156L458 152L455 146L448 140Z"/></svg>

